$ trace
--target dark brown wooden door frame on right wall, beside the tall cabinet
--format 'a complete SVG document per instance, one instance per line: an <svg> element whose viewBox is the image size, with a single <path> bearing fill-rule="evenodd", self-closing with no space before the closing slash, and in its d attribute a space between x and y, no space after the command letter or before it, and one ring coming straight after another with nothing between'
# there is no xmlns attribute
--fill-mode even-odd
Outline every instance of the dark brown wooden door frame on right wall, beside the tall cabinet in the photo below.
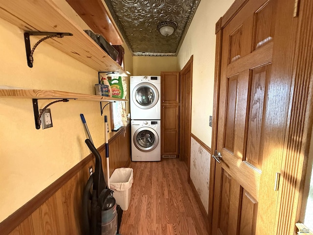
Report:
<svg viewBox="0 0 313 235"><path fill-rule="evenodd" d="M184 74L186 74L187 71L190 71L190 74L191 74L191 78L190 78L190 87L192 88L192 67L193 67L193 55L191 55L190 59L188 60L188 62L186 63L186 65L183 67L183 69L179 72L180 75L179 75L179 79L180 79L180 110L179 110L179 160L180 161L184 161L186 162L187 161L187 167L188 167L188 173L187 173L187 181L189 182L189 178L190 178L190 144L189 144L189 159L184 159L184 137L185 137L185 133L184 133L184 130L185 130L185 114L184 114L184 110L185 110L185 107L186 107L186 102L185 102L185 83L183 81L183 77L184 77ZM190 100L188 100L187 102L189 102L190 104L190 109L188 110L188 115L189 115L189 130L188 130L188 139L189 141L191 141L191 106L192 106L192 93L191 93L191 98Z"/></svg>

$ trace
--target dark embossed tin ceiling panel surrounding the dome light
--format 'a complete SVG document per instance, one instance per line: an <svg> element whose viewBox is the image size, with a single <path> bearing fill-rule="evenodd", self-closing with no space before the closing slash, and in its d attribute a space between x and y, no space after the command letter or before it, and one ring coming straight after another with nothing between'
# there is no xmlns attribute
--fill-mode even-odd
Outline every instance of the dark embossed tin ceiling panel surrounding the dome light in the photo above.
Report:
<svg viewBox="0 0 313 235"><path fill-rule="evenodd" d="M200 0L105 0L127 46L134 56L176 56ZM177 23L163 36L161 22Z"/></svg>

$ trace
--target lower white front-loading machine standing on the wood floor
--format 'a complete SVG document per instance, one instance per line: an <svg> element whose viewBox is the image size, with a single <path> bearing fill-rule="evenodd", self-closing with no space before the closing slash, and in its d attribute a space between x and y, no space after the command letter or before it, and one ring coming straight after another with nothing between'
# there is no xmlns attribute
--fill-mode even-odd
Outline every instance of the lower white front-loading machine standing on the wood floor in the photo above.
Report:
<svg viewBox="0 0 313 235"><path fill-rule="evenodd" d="M161 161L161 121L132 120L132 161Z"/></svg>

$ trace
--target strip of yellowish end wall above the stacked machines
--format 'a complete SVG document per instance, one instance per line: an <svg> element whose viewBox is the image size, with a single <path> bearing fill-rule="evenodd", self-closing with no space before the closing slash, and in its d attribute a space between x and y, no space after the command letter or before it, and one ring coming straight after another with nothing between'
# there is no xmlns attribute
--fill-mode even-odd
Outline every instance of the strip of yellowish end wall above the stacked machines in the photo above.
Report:
<svg viewBox="0 0 313 235"><path fill-rule="evenodd" d="M159 76L161 71L179 71L176 56L134 56L134 76Z"/></svg>

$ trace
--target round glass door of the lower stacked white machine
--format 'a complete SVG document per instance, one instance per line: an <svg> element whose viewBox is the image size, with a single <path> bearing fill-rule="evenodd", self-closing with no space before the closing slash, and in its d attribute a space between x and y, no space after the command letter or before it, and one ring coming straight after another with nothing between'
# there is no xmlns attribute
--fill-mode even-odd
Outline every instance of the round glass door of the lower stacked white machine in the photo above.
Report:
<svg viewBox="0 0 313 235"><path fill-rule="evenodd" d="M158 135L150 127L141 127L135 131L133 137L135 147L142 152L154 150L158 144Z"/></svg>

